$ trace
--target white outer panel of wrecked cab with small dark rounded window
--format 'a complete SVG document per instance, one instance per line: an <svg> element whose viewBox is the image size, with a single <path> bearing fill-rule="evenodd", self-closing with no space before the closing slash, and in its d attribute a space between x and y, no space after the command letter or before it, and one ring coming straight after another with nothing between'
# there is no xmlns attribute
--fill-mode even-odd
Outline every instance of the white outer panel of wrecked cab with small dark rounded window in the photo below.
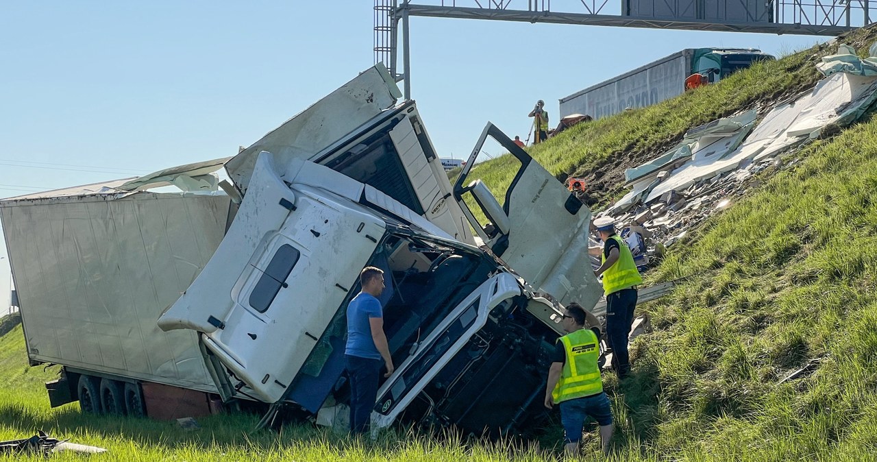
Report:
<svg viewBox="0 0 877 462"><path fill-rule="evenodd" d="M295 190L260 154L222 245L159 319L164 330L203 332L264 402L282 399L384 232L381 219L340 196Z"/></svg>

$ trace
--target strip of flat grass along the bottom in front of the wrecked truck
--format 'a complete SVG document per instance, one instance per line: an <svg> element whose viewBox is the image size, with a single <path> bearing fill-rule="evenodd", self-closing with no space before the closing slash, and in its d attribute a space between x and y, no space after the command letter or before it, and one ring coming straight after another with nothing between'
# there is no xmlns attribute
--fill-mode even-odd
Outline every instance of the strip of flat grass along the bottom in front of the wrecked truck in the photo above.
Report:
<svg viewBox="0 0 877 462"><path fill-rule="evenodd" d="M334 435L310 425L281 431L253 432L259 416L227 414L199 418L201 430L184 431L175 423L118 416L82 415L77 403L50 409L43 383L57 377L58 366L27 366L22 328L0 338L0 440L32 436L36 430L78 444L106 448L107 453L62 453L53 460L94 458L127 460L498 460L508 458L509 444L464 444L460 438L425 438L390 431L377 442ZM544 460L532 444L517 444L519 460ZM3 456L0 460L42 460L39 456Z"/></svg>

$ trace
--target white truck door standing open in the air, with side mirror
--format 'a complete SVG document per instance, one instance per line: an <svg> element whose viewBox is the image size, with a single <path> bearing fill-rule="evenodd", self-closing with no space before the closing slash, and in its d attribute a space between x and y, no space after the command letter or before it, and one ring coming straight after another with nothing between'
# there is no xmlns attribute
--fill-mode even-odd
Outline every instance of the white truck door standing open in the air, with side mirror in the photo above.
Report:
<svg viewBox="0 0 877 462"><path fill-rule="evenodd" d="M471 175L488 137L517 164L504 191L491 192L490 187L503 185L488 185ZM453 195L484 244L533 288L585 309L599 300L602 288L588 257L591 211L494 124L481 132ZM497 196L504 197L502 205Z"/></svg>

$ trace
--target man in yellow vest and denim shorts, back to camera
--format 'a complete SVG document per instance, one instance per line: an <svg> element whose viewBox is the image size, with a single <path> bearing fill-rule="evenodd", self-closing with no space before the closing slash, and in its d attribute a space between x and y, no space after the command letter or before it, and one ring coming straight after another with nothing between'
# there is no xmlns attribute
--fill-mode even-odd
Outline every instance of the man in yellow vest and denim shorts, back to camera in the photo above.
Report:
<svg viewBox="0 0 877 462"><path fill-rule="evenodd" d="M567 306L560 326L567 335L558 339L548 370L545 407L560 404L560 422L564 430L564 451L574 456L579 451L585 419L593 417L600 424L603 453L609 453L612 437L612 408L602 391L600 340L585 328L585 309L578 303Z"/></svg>

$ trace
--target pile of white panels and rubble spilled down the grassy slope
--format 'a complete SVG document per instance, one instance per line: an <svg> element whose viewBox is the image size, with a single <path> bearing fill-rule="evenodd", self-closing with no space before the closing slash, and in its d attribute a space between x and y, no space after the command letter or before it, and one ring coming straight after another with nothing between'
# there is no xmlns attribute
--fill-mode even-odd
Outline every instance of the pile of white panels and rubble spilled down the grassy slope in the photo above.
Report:
<svg viewBox="0 0 877 462"><path fill-rule="evenodd" d="M877 42L870 50L877 54ZM755 110L747 110L703 124L667 153L625 171L631 192L598 217L615 219L641 255L638 266L760 184L752 175L780 167L782 153L818 138L830 124L852 124L873 106L877 57L859 60L841 45L817 68L827 75L823 80L758 123Z"/></svg>

